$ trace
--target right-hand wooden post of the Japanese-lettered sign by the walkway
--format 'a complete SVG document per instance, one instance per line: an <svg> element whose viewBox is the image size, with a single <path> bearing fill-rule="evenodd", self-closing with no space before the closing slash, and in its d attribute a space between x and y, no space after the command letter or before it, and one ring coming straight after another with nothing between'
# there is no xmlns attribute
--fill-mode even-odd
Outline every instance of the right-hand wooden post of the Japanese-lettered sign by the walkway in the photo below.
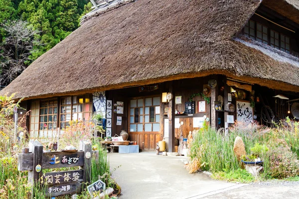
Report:
<svg viewBox="0 0 299 199"><path fill-rule="evenodd" d="M84 151L83 182L90 183L91 182L91 159L92 159L91 144L84 141L83 151Z"/></svg>

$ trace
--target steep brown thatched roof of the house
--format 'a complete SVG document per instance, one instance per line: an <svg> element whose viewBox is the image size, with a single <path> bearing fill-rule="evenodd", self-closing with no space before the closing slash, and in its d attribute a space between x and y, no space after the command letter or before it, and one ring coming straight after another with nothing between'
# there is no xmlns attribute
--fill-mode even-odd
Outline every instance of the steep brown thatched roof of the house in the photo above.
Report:
<svg viewBox="0 0 299 199"><path fill-rule="evenodd" d="M45 98L210 74L299 92L299 67L233 39L260 3L126 3L89 18L0 95L17 92L16 98Z"/></svg>

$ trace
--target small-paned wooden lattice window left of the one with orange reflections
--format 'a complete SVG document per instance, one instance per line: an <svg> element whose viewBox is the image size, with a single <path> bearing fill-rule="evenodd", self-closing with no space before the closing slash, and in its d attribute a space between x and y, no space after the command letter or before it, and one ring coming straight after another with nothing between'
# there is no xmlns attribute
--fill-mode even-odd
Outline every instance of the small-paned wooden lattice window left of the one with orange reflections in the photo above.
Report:
<svg viewBox="0 0 299 199"><path fill-rule="evenodd" d="M39 130L57 129L57 100L42 100L39 108Z"/></svg>

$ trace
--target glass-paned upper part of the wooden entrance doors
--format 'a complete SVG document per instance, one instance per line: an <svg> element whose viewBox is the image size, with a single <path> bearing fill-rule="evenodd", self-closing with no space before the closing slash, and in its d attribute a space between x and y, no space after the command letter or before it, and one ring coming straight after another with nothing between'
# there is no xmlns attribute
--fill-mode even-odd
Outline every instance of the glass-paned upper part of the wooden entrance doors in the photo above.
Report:
<svg viewBox="0 0 299 199"><path fill-rule="evenodd" d="M130 100L130 132L159 131L159 108L159 97Z"/></svg>

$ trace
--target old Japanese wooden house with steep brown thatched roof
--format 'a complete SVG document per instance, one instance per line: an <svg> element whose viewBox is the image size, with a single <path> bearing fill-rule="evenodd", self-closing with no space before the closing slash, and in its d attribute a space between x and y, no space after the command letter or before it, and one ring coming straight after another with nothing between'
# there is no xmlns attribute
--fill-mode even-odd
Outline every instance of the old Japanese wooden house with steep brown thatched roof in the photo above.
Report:
<svg viewBox="0 0 299 199"><path fill-rule="evenodd" d="M40 114L43 101L51 102L60 110L52 113L57 116L50 122L54 130L80 115L87 119L94 110L91 101L98 95L105 99L106 94L112 104L124 102L124 112L112 114L109 130L113 134L129 130L130 139L144 149L154 148L163 136L172 140L182 131L186 137L205 117L213 127L224 127L227 115L239 117L232 109L233 105L237 109L238 100L256 102L252 114L266 123L287 116L294 103L273 96L299 98L299 0L132 0L98 11L0 95L16 93L15 98L24 98L28 109L36 109L36 118L46 115ZM212 79L217 86L210 81L212 88L206 87ZM173 94L169 103L161 101L164 92ZM204 98L193 95L197 93L211 97L211 103L200 107ZM190 98L196 107L193 110L191 104L191 114L175 115L175 110L189 111L185 102L192 95L197 97ZM75 107L81 97L90 99L81 100L87 109L68 109L67 101ZM215 108L218 101L220 111ZM165 107L171 110L168 116ZM49 131L49 118L33 121L33 116L28 124L33 135ZM121 125L116 125L117 116L122 117ZM174 117L185 125L174 128ZM164 132L168 129L169 136Z"/></svg>

